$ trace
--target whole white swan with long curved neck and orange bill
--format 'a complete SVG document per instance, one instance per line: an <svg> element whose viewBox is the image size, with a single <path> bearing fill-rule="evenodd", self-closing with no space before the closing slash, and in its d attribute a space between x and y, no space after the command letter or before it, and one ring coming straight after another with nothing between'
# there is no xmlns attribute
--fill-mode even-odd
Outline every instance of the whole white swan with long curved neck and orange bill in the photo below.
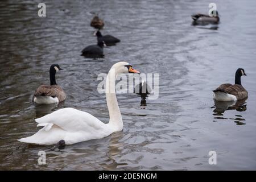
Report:
<svg viewBox="0 0 256 182"><path fill-rule="evenodd" d="M115 96L115 78L118 73L139 73L129 63L119 62L112 66L106 78L106 102L109 109L109 123L105 124L93 115L73 108L65 108L35 119L38 126L44 126L31 137L20 142L39 145L74 144L91 139L107 137L115 131L122 131L122 115Z"/></svg>

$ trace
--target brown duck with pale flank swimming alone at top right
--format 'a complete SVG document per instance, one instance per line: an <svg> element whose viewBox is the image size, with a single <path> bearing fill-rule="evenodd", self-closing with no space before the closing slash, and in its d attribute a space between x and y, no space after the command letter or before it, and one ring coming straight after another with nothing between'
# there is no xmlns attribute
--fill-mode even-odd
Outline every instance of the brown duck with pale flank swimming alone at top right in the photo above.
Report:
<svg viewBox="0 0 256 182"><path fill-rule="evenodd" d="M193 19L193 24L217 24L220 22L220 17L218 16L218 11L216 11L216 16L209 16L204 14L193 14L191 15Z"/></svg>

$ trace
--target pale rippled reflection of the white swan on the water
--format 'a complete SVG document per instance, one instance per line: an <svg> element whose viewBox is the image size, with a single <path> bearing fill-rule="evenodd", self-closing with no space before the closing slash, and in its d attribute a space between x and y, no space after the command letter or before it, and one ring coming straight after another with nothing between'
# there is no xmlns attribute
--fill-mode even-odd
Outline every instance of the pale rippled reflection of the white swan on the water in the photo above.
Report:
<svg viewBox="0 0 256 182"><path fill-rule="evenodd" d="M49 161L54 160L59 164L74 163L75 169L88 170L100 166L99 169L115 170L118 167L127 166L127 163L118 162L123 155L124 143L121 139L123 139L123 132L118 131L106 138L88 140L61 148L56 144L46 146L48 149L43 150L47 152ZM36 151L38 150L42 150L42 147L36 148ZM71 169L74 169L73 167Z"/></svg>

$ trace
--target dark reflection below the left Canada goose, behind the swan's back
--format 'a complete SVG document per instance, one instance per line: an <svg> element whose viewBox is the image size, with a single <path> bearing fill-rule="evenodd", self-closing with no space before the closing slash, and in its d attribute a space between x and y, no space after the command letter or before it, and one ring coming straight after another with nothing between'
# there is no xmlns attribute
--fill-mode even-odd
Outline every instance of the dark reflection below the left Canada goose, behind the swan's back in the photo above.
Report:
<svg viewBox="0 0 256 182"><path fill-rule="evenodd" d="M59 104L35 104L36 118L43 117L46 114L52 113L53 110L61 109L64 107L64 103Z"/></svg>

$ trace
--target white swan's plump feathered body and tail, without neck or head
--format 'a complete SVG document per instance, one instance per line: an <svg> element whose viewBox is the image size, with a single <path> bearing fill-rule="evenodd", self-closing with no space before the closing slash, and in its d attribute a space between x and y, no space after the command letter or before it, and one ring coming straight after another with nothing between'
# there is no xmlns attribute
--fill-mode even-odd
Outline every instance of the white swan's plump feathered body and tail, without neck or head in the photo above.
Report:
<svg viewBox="0 0 256 182"><path fill-rule="evenodd" d="M65 144L73 144L122 130L122 127L117 129L109 123L104 124L93 115L73 108L54 111L35 121L44 127L31 137L20 139L20 142L50 145L65 140Z"/></svg>

